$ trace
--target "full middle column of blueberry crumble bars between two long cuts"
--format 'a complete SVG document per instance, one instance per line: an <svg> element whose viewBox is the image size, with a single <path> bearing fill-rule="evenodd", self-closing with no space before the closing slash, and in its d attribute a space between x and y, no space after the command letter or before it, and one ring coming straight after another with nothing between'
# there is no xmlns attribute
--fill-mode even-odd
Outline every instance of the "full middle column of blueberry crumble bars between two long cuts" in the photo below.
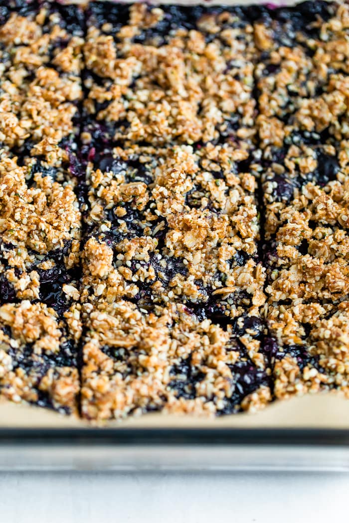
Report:
<svg viewBox="0 0 349 523"><path fill-rule="evenodd" d="M254 54L241 8L87 10L87 418L271 400Z"/></svg>

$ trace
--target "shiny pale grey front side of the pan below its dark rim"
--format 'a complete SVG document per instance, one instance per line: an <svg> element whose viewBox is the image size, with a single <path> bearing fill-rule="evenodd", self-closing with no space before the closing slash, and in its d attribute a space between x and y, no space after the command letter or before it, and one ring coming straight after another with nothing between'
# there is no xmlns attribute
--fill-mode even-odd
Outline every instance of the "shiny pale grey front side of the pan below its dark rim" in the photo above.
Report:
<svg viewBox="0 0 349 523"><path fill-rule="evenodd" d="M349 472L348 445L0 445L0 472Z"/></svg>

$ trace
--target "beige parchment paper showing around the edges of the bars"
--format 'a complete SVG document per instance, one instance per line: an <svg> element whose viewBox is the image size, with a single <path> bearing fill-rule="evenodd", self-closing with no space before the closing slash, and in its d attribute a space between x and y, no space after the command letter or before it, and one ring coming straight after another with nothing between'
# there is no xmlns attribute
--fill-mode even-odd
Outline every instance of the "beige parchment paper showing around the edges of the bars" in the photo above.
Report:
<svg viewBox="0 0 349 523"><path fill-rule="evenodd" d="M102 0L103 1L103 0ZM62 4L86 4L85 0L61 0ZM197 4L190 0L152 2L162 4ZM258 0L202 2L214 4L251 4ZM260 2L267 3L267 2ZM295 4L293 0L273 0L275 5ZM234 414L215 419L170 414L144 414L119 422L108 422L109 428L337 428L349 429L349 401L334 392L307 395L276 401L257 414ZM63 416L44 408L0 400L0 428L83 428L84 420Z"/></svg>

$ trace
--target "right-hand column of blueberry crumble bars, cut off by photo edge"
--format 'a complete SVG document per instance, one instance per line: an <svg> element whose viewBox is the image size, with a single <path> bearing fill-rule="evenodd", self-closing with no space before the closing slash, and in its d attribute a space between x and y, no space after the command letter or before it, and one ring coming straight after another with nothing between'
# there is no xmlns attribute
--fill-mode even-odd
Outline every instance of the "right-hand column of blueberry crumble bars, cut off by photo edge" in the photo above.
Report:
<svg viewBox="0 0 349 523"><path fill-rule="evenodd" d="M347 394L349 8L264 12L255 34L274 394Z"/></svg>

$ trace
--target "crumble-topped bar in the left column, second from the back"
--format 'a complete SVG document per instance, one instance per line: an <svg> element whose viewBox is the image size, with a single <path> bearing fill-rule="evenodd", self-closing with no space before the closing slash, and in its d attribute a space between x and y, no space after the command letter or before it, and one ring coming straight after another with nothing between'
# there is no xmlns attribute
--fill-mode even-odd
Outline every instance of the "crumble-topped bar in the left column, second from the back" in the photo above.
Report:
<svg viewBox="0 0 349 523"><path fill-rule="evenodd" d="M79 298L81 214L57 163L0 154L0 304L43 302L63 314Z"/></svg>

